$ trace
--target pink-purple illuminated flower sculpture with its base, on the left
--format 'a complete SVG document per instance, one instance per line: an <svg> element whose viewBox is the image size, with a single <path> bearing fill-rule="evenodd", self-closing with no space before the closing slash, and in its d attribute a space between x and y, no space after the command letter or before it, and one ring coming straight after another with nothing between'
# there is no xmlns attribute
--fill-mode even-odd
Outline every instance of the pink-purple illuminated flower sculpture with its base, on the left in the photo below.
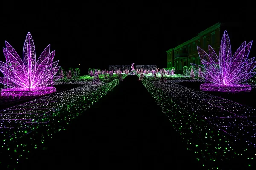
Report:
<svg viewBox="0 0 256 170"><path fill-rule="evenodd" d="M1 90L1 96L40 96L56 91L52 83L61 78L55 76L60 67L58 61L53 62L55 51L50 52L50 45L36 59L34 42L28 33L22 59L7 41L3 53L6 63L0 61L0 83L8 88Z"/></svg>

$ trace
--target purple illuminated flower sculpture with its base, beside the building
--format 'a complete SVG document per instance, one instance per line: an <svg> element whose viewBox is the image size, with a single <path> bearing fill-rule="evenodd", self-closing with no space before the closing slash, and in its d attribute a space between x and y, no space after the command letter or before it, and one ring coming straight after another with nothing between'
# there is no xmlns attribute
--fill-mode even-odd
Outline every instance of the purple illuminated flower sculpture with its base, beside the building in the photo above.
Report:
<svg viewBox="0 0 256 170"><path fill-rule="evenodd" d="M220 54L217 56L213 48L209 45L209 54L201 48L198 48L198 54L202 62L202 77L210 83L200 85L203 91L221 91L221 92L240 92L251 91L251 86L245 83L247 79L253 77L256 67L254 57L248 58L252 41L247 45L242 45L237 49L235 54L231 55L230 39L227 31L224 31ZM201 65L192 64L193 67Z"/></svg>

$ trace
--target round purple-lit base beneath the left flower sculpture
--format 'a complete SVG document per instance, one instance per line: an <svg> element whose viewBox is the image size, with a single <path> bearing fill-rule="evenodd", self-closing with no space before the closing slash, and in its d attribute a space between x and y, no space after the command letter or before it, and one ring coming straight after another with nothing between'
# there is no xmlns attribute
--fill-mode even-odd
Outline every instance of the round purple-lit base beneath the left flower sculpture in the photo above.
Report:
<svg viewBox="0 0 256 170"><path fill-rule="evenodd" d="M1 90L1 96L6 97L21 97L21 96L42 96L56 92L55 87L46 86L41 88L4 88Z"/></svg>

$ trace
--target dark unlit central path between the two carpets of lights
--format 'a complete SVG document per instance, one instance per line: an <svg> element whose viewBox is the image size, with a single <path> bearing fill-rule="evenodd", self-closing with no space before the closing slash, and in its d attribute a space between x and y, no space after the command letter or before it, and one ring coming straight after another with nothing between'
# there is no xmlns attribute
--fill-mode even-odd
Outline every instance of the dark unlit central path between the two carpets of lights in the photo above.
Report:
<svg viewBox="0 0 256 170"><path fill-rule="evenodd" d="M26 165L25 165L26 164ZM137 76L128 76L47 150L25 167L36 169L199 169L193 154Z"/></svg>

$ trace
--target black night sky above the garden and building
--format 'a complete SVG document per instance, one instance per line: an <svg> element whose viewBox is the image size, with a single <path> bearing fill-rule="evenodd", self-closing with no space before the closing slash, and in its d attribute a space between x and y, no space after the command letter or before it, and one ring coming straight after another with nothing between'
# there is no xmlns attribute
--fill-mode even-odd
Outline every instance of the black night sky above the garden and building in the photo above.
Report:
<svg viewBox="0 0 256 170"><path fill-rule="evenodd" d="M221 6L216 1L5 3L1 6L1 47L7 41L22 57L30 32L37 57L51 44L58 66L78 67L82 74L87 74L88 68L108 69L109 65L133 62L166 67L167 50L218 22L235 26L227 30L231 46L256 40L254 19L250 17L255 9L248 3L237 7ZM239 40L235 41L236 37ZM0 60L5 62L3 53Z"/></svg>

